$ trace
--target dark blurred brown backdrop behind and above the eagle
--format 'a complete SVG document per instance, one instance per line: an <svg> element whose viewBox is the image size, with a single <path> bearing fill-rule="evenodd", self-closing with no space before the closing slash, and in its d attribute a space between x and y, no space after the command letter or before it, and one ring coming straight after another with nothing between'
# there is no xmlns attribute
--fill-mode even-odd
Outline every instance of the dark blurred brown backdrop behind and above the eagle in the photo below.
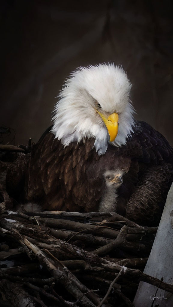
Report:
<svg viewBox="0 0 173 307"><path fill-rule="evenodd" d="M173 145L171 0L2 0L3 142L36 142L51 125L58 91L78 66L114 61L133 83L137 115ZM5 134L3 135L5 136Z"/></svg>

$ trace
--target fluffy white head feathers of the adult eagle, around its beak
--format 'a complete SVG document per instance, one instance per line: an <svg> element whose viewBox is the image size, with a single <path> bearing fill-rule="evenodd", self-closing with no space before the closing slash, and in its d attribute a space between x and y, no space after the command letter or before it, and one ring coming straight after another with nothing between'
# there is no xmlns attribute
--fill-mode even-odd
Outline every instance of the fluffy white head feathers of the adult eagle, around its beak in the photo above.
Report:
<svg viewBox="0 0 173 307"><path fill-rule="evenodd" d="M119 114L119 130L114 146L126 143L131 135L133 107L129 101L131 83L123 68L114 64L81 67L65 81L55 106L52 132L68 146L70 142L85 142L94 138L94 147L99 154L107 150L109 134L103 119L95 110L96 103L105 116Z"/></svg>

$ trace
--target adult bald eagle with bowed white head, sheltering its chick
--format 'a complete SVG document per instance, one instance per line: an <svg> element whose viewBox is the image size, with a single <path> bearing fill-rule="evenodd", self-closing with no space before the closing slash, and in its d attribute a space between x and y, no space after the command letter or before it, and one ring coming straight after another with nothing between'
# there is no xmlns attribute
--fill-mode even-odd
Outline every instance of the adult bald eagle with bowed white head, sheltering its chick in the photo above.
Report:
<svg viewBox="0 0 173 307"><path fill-rule="evenodd" d="M97 211L103 173L123 169L117 212L140 223L159 220L173 180L173 150L136 121L131 83L114 64L72 72L59 95L54 124L34 146L26 198L49 210Z"/></svg>

